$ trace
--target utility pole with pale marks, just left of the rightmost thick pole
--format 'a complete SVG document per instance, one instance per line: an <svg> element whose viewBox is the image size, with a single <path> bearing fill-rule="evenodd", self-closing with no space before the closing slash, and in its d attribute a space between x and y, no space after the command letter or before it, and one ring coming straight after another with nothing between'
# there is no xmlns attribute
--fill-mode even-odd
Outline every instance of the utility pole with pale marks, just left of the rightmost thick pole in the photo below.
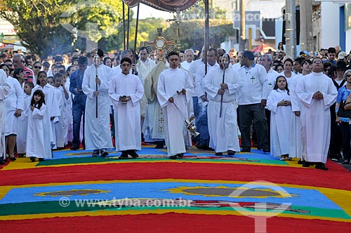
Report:
<svg viewBox="0 0 351 233"><path fill-rule="evenodd" d="M296 2L285 0L286 55L296 58Z"/></svg>

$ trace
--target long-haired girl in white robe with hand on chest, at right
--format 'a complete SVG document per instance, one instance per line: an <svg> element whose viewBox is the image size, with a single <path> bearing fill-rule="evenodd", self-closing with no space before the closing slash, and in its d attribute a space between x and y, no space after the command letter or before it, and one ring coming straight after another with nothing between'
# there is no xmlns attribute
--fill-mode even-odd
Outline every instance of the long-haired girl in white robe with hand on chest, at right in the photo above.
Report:
<svg viewBox="0 0 351 233"><path fill-rule="evenodd" d="M267 98L270 110L270 154L289 159L289 140L291 122L291 95L286 78L277 76L273 90Z"/></svg>

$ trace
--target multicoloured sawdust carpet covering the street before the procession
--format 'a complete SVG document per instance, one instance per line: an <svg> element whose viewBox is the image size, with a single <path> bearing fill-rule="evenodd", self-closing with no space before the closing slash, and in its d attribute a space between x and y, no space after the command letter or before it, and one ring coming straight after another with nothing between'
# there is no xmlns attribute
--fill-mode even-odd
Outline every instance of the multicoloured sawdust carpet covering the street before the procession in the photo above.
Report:
<svg viewBox="0 0 351 233"><path fill-rule="evenodd" d="M62 150L1 166L0 232L350 232L351 174L252 149L144 146L138 159Z"/></svg>

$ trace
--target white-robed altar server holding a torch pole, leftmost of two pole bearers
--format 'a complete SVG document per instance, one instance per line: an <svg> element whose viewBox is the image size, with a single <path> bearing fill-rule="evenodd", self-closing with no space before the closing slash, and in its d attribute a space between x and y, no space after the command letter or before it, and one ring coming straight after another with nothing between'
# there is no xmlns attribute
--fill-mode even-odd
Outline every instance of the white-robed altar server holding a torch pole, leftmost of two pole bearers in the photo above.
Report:
<svg viewBox="0 0 351 233"><path fill-rule="evenodd" d="M84 139L86 149L93 149L93 157L99 153L102 157L108 155L107 148L112 148L110 131L110 97L108 95L112 69L102 64L104 56L100 48L92 51L91 55L98 54L98 68L91 65L84 72L81 88L86 94L86 110L84 124ZM97 72L97 73L96 73ZM98 78L96 77L98 76ZM98 91L95 91L98 84ZM98 117L96 117L96 101L98 101Z"/></svg>

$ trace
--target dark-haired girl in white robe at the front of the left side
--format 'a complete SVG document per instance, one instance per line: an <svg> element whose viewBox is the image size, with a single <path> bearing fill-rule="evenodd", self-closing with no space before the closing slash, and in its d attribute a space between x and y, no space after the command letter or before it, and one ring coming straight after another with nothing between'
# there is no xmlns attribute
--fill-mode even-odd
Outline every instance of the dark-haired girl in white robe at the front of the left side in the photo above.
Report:
<svg viewBox="0 0 351 233"><path fill-rule="evenodd" d="M39 158L39 161L52 158L50 116L44 95L41 90L34 91L30 107L26 110L28 114L26 156L32 162L35 158Z"/></svg>

